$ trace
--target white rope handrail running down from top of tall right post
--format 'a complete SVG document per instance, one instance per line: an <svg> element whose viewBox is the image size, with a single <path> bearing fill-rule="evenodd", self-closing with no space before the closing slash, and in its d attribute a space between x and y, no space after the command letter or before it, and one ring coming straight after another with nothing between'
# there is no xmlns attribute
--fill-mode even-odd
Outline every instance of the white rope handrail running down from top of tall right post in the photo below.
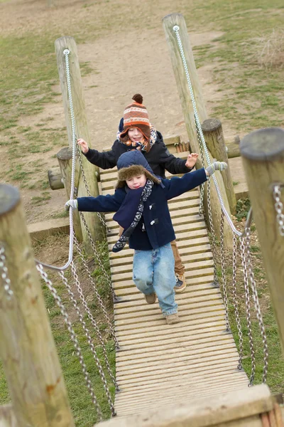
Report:
<svg viewBox="0 0 284 427"><path fill-rule="evenodd" d="M192 107L193 107L193 112L194 112L194 115L195 115L195 122L197 124L197 129L198 129L198 131L200 133L200 138L202 140L202 146L204 147L204 153L205 153L205 157L206 157L207 163L210 164L211 161L210 161L210 157L209 157L209 152L208 152L207 145L206 145L206 142L205 142L205 139L204 139L204 135L203 135L203 132L202 132L202 127L200 125L200 119L198 117L197 107L196 107L196 103L195 103L195 95L193 93L192 84L191 84L191 80L190 80L190 73L189 73L188 68L187 68L187 62L186 62L186 59L185 59L185 53L183 51L182 41L180 39L180 33L179 33L180 27L178 25L173 26L173 31L175 31L175 36L176 36L177 41L178 41L178 47L180 49L180 56L182 58L182 63L183 63L183 67L184 67L184 70L185 70L185 75L186 75L186 78L187 78L187 84L188 84L188 88L190 90L190 97L191 97L191 100L192 100ZM230 214L226 211L226 208L224 206L224 201L222 199L222 194L221 194L221 191L219 189L219 184L218 184L217 179L214 176L214 174L212 175L212 179L214 181L214 185L215 185L215 188L216 188L216 191L217 191L217 196L219 198L219 202L220 202L221 207L222 207L222 211L224 212L224 215L226 216L226 220L228 221L229 226L231 227L232 231L234 231L234 233L236 233L236 236L241 236L241 232L236 229L236 227L234 226L233 221L231 221Z"/></svg>

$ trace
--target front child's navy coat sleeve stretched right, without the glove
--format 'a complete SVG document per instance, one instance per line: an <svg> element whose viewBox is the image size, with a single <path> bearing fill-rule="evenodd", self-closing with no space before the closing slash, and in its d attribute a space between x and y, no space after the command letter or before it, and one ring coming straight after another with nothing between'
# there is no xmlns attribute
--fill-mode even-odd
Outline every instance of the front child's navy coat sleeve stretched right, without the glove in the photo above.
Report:
<svg viewBox="0 0 284 427"><path fill-rule="evenodd" d="M173 176L172 179L163 179L163 184L167 190L167 199L173 199L174 197L180 196L180 194L186 191L195 189L200 186L203 182L207 181L205 169L198 169L195 172L190 172L183 175L181 178Z"/></svg>

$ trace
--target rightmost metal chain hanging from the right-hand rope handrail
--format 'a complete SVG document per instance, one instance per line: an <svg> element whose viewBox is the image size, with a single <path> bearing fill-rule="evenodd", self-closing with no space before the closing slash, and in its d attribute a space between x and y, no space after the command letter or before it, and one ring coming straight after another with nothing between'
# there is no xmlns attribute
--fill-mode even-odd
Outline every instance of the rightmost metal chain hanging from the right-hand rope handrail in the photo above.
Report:
<svg viewBox="0 0 284 427"><path fill-rule="evenodd" d="M256 307L256 317L259 324L259 329L261 330L261 338L263 343L263 376L262 381L266 383L267 371L268 371L268 344L266 338L266 330L263 323L263 318L261 315L261 306L258 300L258 292L256 290L256 281L254 280L253 268L251 265L251 231L249 228L246 228L246 263L249 266L249 278L251 281L251 290L253 294L253 302Z"/></svg>

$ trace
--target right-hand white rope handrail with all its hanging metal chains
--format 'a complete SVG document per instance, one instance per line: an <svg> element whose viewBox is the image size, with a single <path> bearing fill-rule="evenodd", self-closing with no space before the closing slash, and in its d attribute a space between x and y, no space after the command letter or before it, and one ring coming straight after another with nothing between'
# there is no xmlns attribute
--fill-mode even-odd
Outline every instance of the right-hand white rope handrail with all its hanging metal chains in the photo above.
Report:
<svg viewBox="0 0 284 427"><path fill-rule="evenodd" d="M190 97L192 101L192 107L193 107L193 113L195 117L195 127L197 130L197 140L200 146L200 154L202 157L202 165L204 167L204 157L206 158L207 164L210 164L210 157L209 157L209 151L207 149L207 144L204 139L204 135L202 132L202 127L200 124L199 115L197 112L197 106L195 102L195 95L192 88L192 83L190 80L190 73L187 67L187 61L185 59L185 52L182 46L182 41L180 38L180 27L178 25L173 26L173 31L175 33L175 36L178 41L178 48L180 51L180 57L182 59L182 65L185 70L185 75L187 79L187 85L190 90ZM258 324L261 330L261 337L263 339L263 382L266 382L266 375L267 375L267 369L268 369L268 347L266 342L266 333L263 325L263 320L261 317L261 311L258 303L258 295L256 291L256 285L255 281L253 279L253 270L251 268L251 257L250 257L250 248L247 240L247 230L250 230L251 227L251 221L252 221L252 209L249 209L249 214L246 218L246 224L244 231L241 232L236 229L234 226L233 221L231 220L230 214L226 211L226 208L224 206L224 201L222 199L222 194L219 189L219 185L217 182L217 179L214 175L212 175L207 180L207 203L208 203L208 211L209 211L209 227L210 232L212 233L212 253L213 253L213 259L216 256L216 242L215 242L215 235L214 235L214 226L212 221L212 211L211 211L211 201L210 201L210 179L213 180L215 189L217 191L217 196L219 199L219 203L221 205L222 209L222 216L221 216L221 255L222 255L222 279L223 279L223 293L224 293L224 305L225 305L225 312L226 312L226 329L229 329L229 313L228 313L228 297L226 292L226 278L225 278L225 268L224 268L224 217L226 217L227 222L229 223L229 226L231 230L233 231L233 263L234 263L234 271L233 271L233 295L234 295L234 308L235 308L235 315L236 315L236 325L238 329L239 334L239 342L240 342L240 352L239 352L239 369L241 369L242 366L242 358L243 358L243 337L241 333L241 322L239 320L239 310L237 309L236 305L236 236L239 238L240 246L241 246L241 260L242 260L242 267L244 272L244 287L245 287L245 295L246 295L246 318L247 318L247 326L249 330L249 343L250 343L250 349L251 349L251 378L249 381L249 385L253 384L253 379L255 376L256 371L256 357L254 353L254 347L253 347L253 337L252 337L252 331L251 331L251 313L250 313L250 296L249 296L249 277L251 281L251 288L253 292L253 301L255 302L255 308L256 308L256 315L258 319ZM284 236L284 214L283 214L283 203L280 201L280 192L281 185L275 184L273 187L273 198L275 200L275 211L276 211L276 220L278 221L278 228L281 236ZM204 186L202 186L200 191L200 215L202 214L202 202L204 199ZM247 246L245 246L245 242L247 243ZM249 274L248 274L248 265L249 265ZM216 264L214 261L214 282L217 283L217 269Z"/></svg>

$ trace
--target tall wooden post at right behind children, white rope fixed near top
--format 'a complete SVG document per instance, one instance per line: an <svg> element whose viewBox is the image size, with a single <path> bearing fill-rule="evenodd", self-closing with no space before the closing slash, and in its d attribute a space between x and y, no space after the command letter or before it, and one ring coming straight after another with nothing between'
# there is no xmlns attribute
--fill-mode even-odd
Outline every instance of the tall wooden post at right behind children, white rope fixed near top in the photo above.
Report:
<svg viewBox="0 0 284 427"><path fill-rule="evenodd" d="M163 18L163 27L165 30L165 37L168 42L168 48L170 50L170 58L172 60L173 71L175 74L175 80L178 85L178 93L180 95L180 102L182 104L182 111L185 117L185 126L187 128L187 134L190 139L190 147L191 152L195 152L200 155L200 147L197 140L197 132L195 128L195 117L192 107L192 100L190 96L190 89L187 83L187 77L185 74L185 69L182 63L182 58L180 56L180 49L178 47L178 41L175 36L175 31L173 31L173 27L178 25L180 27L180 39L182 42L183 51L185 54L185 60L187 62L187 68L190 73L190 80L192 84L192 90L195 95L195 103L197 105L197 112L200 118L200 122L203 122L207 119L207 112L205 108L204 101L202 99L200 82L197 75L197 70L195 67L195 60L193 58L192 48L190 46L190 39L187 33L187 27L185 24L185 19L180 14L170 14ZM213 162L213 157L209 154L210 163ZM200 163L197 164L197 169L200 167ZM224 189L224 182L222 176L220 176L219 172L215 173L217 182L219 184L219 189L222 194L222 199L224 200L224 206L226 210L229 212L229 202L226 197L226 191ZM206 186L205 186L206 187ZM205 216L207 218L207 224L209 225L209 212L208 206L206 203L207 199L207 190L205 188L204 192L204 211ZM219 203L219 199L217 196L217 191L212 185L211 191L211 206L212 206L212 220L214 225L214 230L217 238L220 238L220 224L221 224L221 206ZM232 248L232 231L229 227L228 223L225 221L224 223L224 245L226 248Z"/></svg>

